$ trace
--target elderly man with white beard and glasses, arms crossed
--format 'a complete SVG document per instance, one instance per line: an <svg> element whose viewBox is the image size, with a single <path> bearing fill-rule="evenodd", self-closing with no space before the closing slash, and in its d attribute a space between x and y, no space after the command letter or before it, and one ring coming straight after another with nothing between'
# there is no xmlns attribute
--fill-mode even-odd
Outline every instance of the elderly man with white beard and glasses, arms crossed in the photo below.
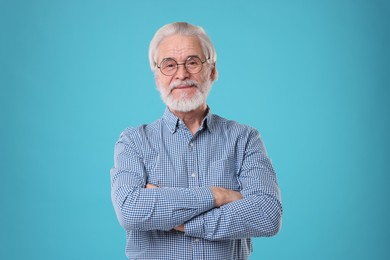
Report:
<svg viewBox="0 0 390 260"><path fill-rule="evenodd" d="M213 114L216 52L188 23L160 28L150 66L167 108L115 144L112 201L129 259L248 259L251 237L275 235L282 206L259 133Z"/></svg>

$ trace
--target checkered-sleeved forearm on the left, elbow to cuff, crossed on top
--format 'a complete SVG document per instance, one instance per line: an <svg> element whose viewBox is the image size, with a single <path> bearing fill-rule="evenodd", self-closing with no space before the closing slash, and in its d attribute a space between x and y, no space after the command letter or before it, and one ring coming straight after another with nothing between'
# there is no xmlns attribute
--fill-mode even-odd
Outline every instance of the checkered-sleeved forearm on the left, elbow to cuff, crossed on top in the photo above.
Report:
<svg viewBox="0 0 390 260"><path fill-rule="evenodd" d="M112 185L112 201L119 222L126 230L170 230L214 207L209 188L146 189Z"/></svg>

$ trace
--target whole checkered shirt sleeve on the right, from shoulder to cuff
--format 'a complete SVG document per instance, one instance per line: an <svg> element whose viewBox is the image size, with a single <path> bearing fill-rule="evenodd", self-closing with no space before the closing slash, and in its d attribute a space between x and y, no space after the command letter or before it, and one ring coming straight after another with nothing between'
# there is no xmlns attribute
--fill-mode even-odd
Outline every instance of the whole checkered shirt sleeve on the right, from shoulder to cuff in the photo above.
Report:
<svg viewBox="0 0 390 260"><path fill-rule="evenodd" d="M282 220L280 191L256 130L249 136L239 181L243 199L194 217L185 223L185 234L208 240L275 235Z"/></svg>

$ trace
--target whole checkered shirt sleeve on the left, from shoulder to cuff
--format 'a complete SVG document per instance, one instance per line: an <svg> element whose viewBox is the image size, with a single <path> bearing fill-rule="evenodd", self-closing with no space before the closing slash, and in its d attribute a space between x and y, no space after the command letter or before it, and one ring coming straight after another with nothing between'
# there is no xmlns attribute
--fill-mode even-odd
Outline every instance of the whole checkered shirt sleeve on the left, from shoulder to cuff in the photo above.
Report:
<svg viewBox="0 0 390 260"><path fill-rule="evenodd" d="M145 189L146 171L134 135L135 130L121 134L111 169L111 198L124 229L168 231L214 207L207 187Z"/></svg>

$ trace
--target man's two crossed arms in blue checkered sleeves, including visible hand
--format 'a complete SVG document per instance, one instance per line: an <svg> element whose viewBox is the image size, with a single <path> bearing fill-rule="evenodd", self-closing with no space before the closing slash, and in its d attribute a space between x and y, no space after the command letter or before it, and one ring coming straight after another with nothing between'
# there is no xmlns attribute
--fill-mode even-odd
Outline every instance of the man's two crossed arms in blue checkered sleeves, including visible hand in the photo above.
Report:
<svg viewBox="0 0 390 260"><path fill-rule="evenodd" d="M142 159L126 142L116 146L112 200L126 230L176 229L209 240L272 236L281 225L279 187L259 138L249 142L241 191L173 188L146 183Z"/></svg>

